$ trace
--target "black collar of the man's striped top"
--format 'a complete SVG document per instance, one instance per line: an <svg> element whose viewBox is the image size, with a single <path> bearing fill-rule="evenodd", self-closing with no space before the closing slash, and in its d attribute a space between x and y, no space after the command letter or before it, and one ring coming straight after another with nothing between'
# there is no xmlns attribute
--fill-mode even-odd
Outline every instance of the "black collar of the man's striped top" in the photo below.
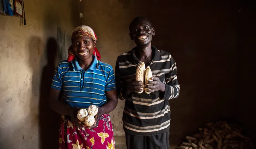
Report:
<svg viewBox="0 0 256 149"><path fill-rule="evenodd" d="M150 63L152 64L152 63L154 63L154 61L162 60L162 56L161 56L160 52L158 51L158 49L154 46L151 46L151 49L152 49L153 59L150 61ZM132 62L133 63L139 63L140 60L136 57L135 50L136 50L136 47L132 49L132 57L133 57Z"/></svg>

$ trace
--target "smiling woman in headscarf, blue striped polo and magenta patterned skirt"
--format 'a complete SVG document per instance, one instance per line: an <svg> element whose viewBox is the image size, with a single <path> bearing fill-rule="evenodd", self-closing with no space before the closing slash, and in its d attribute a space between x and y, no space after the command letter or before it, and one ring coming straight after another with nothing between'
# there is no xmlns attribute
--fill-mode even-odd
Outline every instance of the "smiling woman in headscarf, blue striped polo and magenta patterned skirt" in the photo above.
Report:
<svg viewBox="0 0 256 149"><path fill-rule="evenodd" d="M109 112L118 99L113 68L93 55L97 36L92 28L79 26L71 36L69 61L56 68L51 84L50 107L61 114L60 149L114 149ZM71 56L71 57L70 57ZM62 100L60 100L62 99ZM79 108L98 107L95 123L87 128L78 120Z"/></svg>

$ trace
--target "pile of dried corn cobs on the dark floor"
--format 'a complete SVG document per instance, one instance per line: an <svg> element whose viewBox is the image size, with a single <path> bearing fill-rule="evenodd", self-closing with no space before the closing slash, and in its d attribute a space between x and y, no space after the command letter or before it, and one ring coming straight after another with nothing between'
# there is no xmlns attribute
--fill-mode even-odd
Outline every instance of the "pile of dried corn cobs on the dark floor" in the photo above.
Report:
<svg viewBox="0 0 256 149"><path fill-rule="evenodd" d="M242 134L242 128L226 121L207 123L200 133L186 136L179 149L254 149L251 139Z"/></svg>

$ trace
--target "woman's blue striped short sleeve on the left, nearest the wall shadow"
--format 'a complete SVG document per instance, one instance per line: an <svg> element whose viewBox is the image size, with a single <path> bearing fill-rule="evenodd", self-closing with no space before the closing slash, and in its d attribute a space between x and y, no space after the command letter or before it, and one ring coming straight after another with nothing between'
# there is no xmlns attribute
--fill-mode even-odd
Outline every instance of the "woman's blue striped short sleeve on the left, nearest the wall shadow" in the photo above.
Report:
<svg viewBox="0 0 256 149"><path fill-rule="evenodd" d="M58 89L58 90L61 90L63 88L61 69L59 65L57 66L54 72L53 81L51 82L51 88Z"/></svg>

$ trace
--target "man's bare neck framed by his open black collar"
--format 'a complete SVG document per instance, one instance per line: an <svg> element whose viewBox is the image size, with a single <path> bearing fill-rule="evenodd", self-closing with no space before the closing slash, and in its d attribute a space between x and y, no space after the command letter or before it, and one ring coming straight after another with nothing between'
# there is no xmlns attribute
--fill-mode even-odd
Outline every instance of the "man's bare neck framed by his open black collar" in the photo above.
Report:
<svg viewBox="0 0 256 149"><path fill-rule="evenodd" d="M145 46L137 46L137 50L135 50L136 57L144 62L145 64L150 62L152 59L152 48L151 42Z"/></svg>

